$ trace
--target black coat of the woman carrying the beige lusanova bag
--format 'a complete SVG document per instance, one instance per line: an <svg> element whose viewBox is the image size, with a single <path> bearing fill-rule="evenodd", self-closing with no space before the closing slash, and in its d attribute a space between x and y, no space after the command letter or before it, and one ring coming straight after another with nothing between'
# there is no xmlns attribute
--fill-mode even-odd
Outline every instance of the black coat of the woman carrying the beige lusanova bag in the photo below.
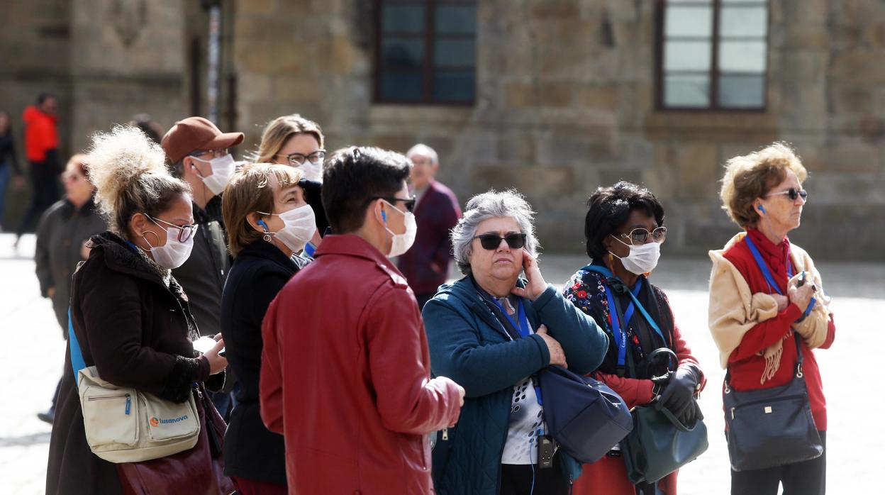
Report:
<svg viewBox="0 0 885 495"><path fill-rule="evenodd" d="M196 325L181 286L171 277L165 282L158 268L119 236L105 232L90 243L89 259L74 273L71 289L73 332L86 366L96 366L108 382L184 402L191 383L209 377L209 363L195 358ZM46 493L119 492L114 465L89 450L69 344Z"/></svg>

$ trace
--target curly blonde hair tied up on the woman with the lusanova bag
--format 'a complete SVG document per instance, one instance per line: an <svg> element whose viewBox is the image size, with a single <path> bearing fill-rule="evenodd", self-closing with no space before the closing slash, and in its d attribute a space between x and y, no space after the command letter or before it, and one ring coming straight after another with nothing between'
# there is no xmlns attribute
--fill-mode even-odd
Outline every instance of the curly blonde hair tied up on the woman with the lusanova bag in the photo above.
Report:
<svg viewBox="0 0 885 495"><path fill-rule="evenodd" d="M173 199L190 194L187 182L169 174L158 143L139 128L120 125L92 135L89 181L112 232L125 238L135 213L159 216Z"/></svg>

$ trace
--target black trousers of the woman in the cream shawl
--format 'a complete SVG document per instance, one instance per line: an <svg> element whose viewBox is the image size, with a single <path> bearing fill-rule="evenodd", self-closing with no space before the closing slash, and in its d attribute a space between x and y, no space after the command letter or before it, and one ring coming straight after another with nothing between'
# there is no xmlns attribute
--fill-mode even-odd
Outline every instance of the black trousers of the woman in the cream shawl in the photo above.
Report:
<svg viewBox="0 0 885 495"><path fill-rule="evenodd" d="M824 452L820 457L774 468L731 472L731 495L823 495L827 491L827 432L819 431Z"/></svg>

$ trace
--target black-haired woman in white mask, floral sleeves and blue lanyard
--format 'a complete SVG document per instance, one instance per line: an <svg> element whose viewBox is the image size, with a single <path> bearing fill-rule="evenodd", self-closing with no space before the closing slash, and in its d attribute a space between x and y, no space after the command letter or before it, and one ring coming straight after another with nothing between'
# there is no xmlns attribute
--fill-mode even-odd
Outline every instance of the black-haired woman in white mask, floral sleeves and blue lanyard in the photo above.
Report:
<svg viewBox="0 0 885 495"><path fill-rule="evenodd" d="M648 278L666 239L664 207L649 189L630 182L596 189L588 207L584 235L591 263L566 282L564 294L609 335L605 359L593 376L618 392L630 408L654 403L683 424L694 425L703 418L696 394L704 386L704 375L675 324L666 294ZM659 360L672 356L655 352L662 348L675 353L677 363L670 362L672 358ZM674 364L675 371L668 373ZM662 492L676 493L676 473L658 483L635 485L616 449L585 465L574 486L576 495Z"/></svg>

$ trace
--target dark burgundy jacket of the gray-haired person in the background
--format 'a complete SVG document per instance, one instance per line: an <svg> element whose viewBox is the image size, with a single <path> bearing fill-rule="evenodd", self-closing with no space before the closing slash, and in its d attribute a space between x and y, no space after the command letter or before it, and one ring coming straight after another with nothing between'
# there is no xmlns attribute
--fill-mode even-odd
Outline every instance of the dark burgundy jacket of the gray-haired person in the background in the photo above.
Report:
<svg viewBox="0 0 885 495"><path fill-rule="evenodd" d="M432 296L448 278L452 258L449 232L459 218L461 208L455 193L431 180L415 207L415 244L396 261L416 294Z"/></svg>

